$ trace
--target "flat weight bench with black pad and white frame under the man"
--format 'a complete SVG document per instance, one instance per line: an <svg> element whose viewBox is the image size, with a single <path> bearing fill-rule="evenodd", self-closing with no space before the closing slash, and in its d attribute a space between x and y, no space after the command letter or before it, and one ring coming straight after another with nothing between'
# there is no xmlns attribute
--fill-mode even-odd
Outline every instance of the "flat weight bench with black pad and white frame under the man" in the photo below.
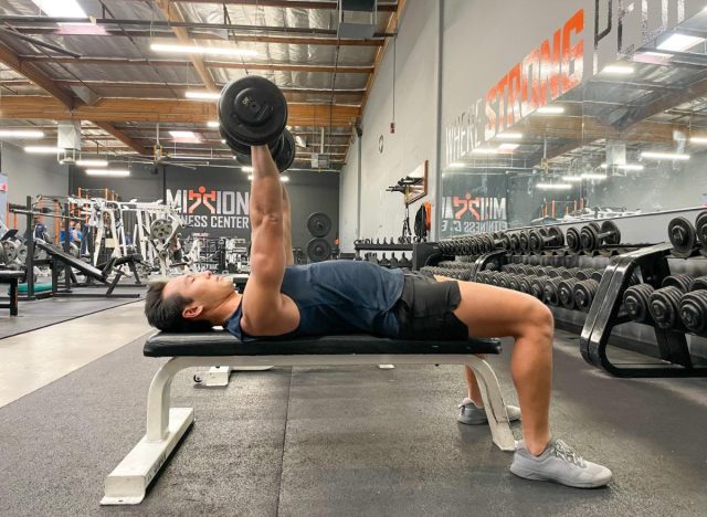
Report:
<svg viewBox="0 0 707 517"><path fill-rule="evenodd" d="M494 370L475 354L500 354L496 339L407 341L373 336L326 336L241 342L223 330L158 333L147 339L147 357L171 357L155 374L147 395L147 434L106 477L102 505L136 505L194 421L193 408L171 408L170 387L192 367L466 365L476 373L492 439L503 451L516 443Z"/></svg>

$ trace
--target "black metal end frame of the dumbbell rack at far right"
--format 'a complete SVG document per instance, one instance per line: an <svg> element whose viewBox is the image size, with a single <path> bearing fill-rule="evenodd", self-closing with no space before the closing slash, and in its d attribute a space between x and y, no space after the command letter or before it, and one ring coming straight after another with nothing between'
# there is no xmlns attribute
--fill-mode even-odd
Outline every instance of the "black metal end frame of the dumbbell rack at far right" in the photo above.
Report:
<svg viewBox="0 0 707 517"><path fill-rule="evenodd" d="M606 345L613 328L632 319L622 309L623 293L636 270L644 282L661 285L671 274L667 257L669 243L655 244L615 257L605 268L584 327L580 336L580 351L590 365L623 378L707 377L707 367L695 366L687 348L685 333L653 327L663 363L621 366L606 356Z"/></svg>

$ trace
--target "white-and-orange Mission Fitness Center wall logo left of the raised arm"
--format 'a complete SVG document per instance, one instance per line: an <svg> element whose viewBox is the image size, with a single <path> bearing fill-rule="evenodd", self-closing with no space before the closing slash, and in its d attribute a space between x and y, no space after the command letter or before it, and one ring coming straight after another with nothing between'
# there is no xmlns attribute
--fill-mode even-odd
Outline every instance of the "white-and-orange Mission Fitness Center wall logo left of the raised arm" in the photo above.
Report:
<svg viewBox="0 0 707 517"><path fill-rule="evenodd" d="M166 201L184 223L200 232L240 236L250 233L250 192L197 188L166 189Z"/></svg>

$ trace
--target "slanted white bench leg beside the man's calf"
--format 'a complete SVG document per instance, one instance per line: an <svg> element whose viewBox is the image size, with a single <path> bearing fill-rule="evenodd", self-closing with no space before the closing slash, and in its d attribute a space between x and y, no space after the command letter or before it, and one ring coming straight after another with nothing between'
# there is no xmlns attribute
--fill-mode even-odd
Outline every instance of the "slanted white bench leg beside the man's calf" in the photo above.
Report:
<svg viewBox="0 0 707 517"><path fill-rule="evenodd" d="M506 404L500 394L498 378L488 362L477 357L469 357L467 366L474 370L476 381L484 400L484 409L488 419L492 440L502 451L515 451L516 439L510 431Z"/></svg>

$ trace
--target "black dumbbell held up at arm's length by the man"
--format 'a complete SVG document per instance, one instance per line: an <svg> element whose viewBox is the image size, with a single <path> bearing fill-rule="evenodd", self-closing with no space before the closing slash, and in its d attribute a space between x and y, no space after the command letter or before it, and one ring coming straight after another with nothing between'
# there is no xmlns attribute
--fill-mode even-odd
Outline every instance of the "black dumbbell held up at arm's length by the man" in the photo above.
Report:
<svg viewBox="0 0 707 517"><path fill-rule="evenodd" d="M285 129L287 101L265 77L249 75L231 81L219 98L219 129L241 163L251 165L251 146L270 148L283 172L295 159L295 139Z"/></svg>

